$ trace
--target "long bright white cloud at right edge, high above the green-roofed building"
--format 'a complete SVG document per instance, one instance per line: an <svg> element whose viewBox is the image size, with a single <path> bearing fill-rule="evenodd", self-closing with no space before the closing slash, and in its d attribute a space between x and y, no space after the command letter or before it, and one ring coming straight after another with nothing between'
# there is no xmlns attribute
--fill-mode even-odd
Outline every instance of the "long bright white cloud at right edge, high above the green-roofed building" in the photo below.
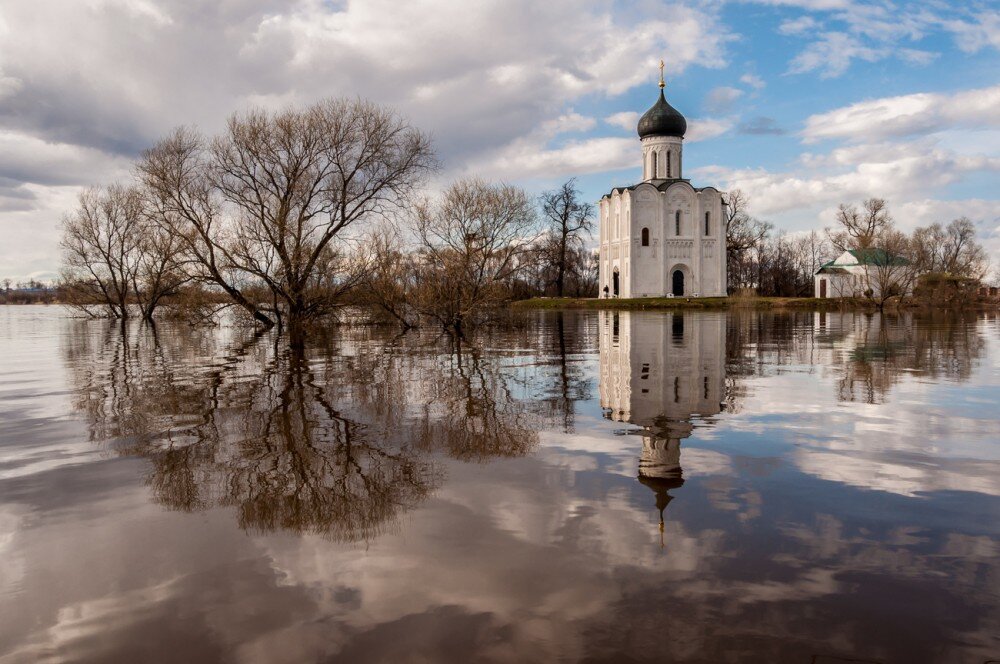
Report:
<svg viewBox="0 0 1000 664"><path fill-rule="evenodd" d="M1000 128L1000 85L858 102L810 116L802 135L807 142L827 138L877 141L957 127Z"/></svg>

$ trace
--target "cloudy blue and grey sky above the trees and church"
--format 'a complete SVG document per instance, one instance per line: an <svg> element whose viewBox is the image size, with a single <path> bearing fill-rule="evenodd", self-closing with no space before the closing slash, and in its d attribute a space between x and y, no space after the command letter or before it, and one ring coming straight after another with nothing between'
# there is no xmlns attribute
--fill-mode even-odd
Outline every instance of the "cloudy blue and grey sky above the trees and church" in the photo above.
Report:
<svg viewBox="0 0 1000 664"><path fill-rule="evenodd" d="M1000 266L1000 0L0 0L0 278L54 278L84 188L251 106L365 97L431 134L432 187L596 201L641 177L661 58L695 186L788 233L968 216Z"/></svg>

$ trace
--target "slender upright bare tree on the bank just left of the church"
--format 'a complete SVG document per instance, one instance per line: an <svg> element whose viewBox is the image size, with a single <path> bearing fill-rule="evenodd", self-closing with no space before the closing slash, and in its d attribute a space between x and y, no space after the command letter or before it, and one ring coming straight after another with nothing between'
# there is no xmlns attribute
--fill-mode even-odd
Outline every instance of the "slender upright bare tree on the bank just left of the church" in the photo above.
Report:
<svg viewBox="0 0 1000 664"><path fill-rule="evenodd" d="M572 259L579 254L574 250L583 247L584 235L589 235L593 228L594 206L580 200L575 179L567 180L558 189L542 193L540 202L548 234L543 251L555 272L556 295L562 297L566 292L567 273L576 269Z"/></svg>

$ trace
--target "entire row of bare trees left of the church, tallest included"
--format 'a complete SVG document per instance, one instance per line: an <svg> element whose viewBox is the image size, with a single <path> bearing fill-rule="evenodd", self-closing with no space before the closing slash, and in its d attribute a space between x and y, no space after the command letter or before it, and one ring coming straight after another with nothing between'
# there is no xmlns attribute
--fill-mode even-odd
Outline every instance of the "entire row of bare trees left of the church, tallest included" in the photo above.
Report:
<svg viewBox="0 0 1000 664"><path fill-rule="evenodd" d="M133 183L87 191L65 218L64 292L152 320L195 291L295 335L346 302L460 331L525 291L596 282L593 209L572 180L537 206L478 179L422 198L437 166L424 133L363 100L251 110L214 137L179 128Z"/></svg>

